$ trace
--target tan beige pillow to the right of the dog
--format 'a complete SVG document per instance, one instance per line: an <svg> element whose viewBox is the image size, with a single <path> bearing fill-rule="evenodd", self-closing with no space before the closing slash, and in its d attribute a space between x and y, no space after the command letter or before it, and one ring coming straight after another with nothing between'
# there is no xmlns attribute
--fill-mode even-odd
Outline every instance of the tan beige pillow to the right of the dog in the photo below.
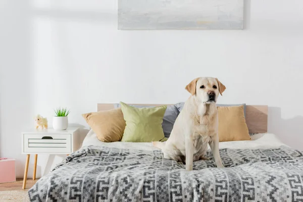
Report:
<svg viewBox="0 0 303 202"><path fill-rule="evenodd" d="M244 117L244 106L217 107L219 141L250 140Z"/></svg>

